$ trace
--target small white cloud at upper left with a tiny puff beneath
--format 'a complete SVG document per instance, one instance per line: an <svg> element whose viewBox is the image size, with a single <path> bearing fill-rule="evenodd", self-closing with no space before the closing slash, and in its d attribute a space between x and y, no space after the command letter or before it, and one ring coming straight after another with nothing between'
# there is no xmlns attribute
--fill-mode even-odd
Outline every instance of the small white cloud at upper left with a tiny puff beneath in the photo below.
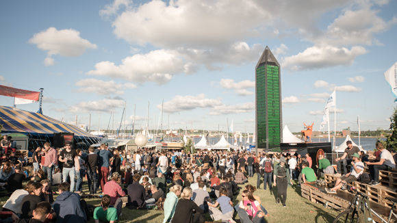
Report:
<svg viewBox="0 0 397 223"><path fill-rule="evenodd" d="M46 66L53 64L51 55L78 57L86 49L97 49L96 44L81 38L79 31L75 29L57 30L54 27L49 27L47 30L34 34L29 43L36 44L36 47L42 51L47 51L48 56L44 61Z"/></svg>

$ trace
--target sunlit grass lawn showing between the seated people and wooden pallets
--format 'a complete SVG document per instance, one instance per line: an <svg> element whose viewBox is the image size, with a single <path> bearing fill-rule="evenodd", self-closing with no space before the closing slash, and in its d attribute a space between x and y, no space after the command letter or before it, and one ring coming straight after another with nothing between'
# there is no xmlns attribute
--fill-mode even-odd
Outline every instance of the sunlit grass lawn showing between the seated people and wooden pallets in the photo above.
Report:
<svg viewBox="0 0 397 223"><path fill-rule="evenodd" d="M249 179L252 185L256 185L256 176ZM261 185L263 187L263 184ZM55 189L55 188L53 188ZM84 192L88 192L87 183L84 183ZM274 196L269 190L259 189L255 192L260 196L262 204L268 210L270 217L266 218L268 222L332 222L337 215L337 211L331 208L325 208L321 204L309 202L309 200L300 196L300 187L288 187L287 189L287 207L275 202ZM3 205L8 197L1 196L0 204ZM235 204L241 200L241 193L235 199ZM99 206L100 199L88 199L88 204ZM162 222L164 215L162 211L156 210L130 210L123 209L123 216L119 222ZM206 216L210 220L209 215ZM238 215L236 217L238 219ZM90 222L94 222L91 220Z"/></svg>

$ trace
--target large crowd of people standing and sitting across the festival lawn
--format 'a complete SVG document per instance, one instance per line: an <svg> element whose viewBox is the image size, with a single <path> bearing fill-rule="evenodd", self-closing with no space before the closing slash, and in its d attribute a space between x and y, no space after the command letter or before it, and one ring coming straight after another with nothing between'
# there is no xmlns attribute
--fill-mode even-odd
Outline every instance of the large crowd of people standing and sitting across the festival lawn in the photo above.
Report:
<svg viewBox="0 0 397 223"><path fill-rule="evenodd" d="M3 145L7 146L2 141ZM373 181L379 177L376 171L395 168L391 154L381 144L376 148L380 159L364 162ZM342 157L353 160L352 171L329 192L362 174L363 157L350 155L352 149L348 143ZM320 156L316 165L309 154L203 150L190 155L183 150L130 152L110 149L107 144L82 151L73 149L71 142L63 148L53 148L49 142L36 148L31 153L30 176L23 170L23 161L2 162L0 185L10 194L1 212L5 222L86 222L90 218L115 222L123 215L123 207L161 209L164 223L204 222L206 215L234 222L235 213L240 222L264 222L271 213L255 194L257 189L269 190L275 202L287 207L287 187L294 184L293 179L299 186L315 182L322 172L335 171L326 157ZM346 162L339 161L342 168ZM256 187L246 184L255 175ZM84 184L88 192L83 192ZM236 200L238 194L241 200ZM85 198L93 197L101 198L100 207L87 205Z"/></svg>

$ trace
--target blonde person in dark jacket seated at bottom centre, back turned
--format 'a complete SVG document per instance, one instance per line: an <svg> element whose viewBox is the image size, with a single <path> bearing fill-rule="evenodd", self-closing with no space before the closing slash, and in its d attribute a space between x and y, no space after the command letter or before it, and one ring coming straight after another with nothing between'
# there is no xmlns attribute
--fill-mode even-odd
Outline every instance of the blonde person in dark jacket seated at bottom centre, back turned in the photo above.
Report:
<svg viewBox="0 0 397 223"><path fill-rule="evenodd" d="M204 222L203 209L190 200L192 198L192 188L185 187L181 193L175 208L174 218L171 223L201 223Z"/></svg>

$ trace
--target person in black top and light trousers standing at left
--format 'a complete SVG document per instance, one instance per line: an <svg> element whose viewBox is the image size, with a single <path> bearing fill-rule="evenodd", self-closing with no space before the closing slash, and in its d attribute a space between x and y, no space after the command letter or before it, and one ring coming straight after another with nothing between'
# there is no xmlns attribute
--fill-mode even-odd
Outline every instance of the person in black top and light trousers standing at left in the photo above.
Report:
<svg viewBox="0 0 397 223"><path fill-rule="evenodd" d="M59 161L64 163L62 169L62 182L66 182L68 177L71 179L71 192L75 191L75 166L80 169L79 158L76 150L73 150L70 142L66 142L66 148L61 151ZM46 158L47 159L47 158ZM52 173L51 173L52 174Z"/></svg>

